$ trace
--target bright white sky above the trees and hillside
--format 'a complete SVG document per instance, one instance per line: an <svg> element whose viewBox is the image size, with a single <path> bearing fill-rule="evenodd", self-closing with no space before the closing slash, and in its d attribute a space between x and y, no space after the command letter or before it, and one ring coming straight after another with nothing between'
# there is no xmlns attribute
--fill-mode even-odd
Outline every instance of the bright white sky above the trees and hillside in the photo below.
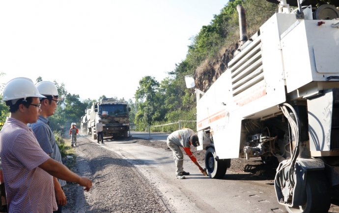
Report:
<svg viewBox="0 0 339 213"><path fill-rule="evenodd" d="M41 76L81 99L161 82L226 0L0 1L0 83ZM185 84L185 82L183 82Z"/></svg>

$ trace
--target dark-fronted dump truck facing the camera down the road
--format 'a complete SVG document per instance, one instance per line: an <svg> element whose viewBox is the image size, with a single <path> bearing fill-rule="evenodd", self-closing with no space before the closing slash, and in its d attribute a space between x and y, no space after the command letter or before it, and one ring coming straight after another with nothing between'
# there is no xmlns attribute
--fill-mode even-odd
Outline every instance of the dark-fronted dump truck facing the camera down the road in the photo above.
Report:
<svg viewBox="0 0 339 213"><path fill-rule="evenodd" d="M91 109L86 110L87 134L92 139L97 139L95 124L101 118L103 124L103 135L105 137L128 137L129 120L128 114L131 108L126 101L113 98L102 98L92 104Z"/></svg>

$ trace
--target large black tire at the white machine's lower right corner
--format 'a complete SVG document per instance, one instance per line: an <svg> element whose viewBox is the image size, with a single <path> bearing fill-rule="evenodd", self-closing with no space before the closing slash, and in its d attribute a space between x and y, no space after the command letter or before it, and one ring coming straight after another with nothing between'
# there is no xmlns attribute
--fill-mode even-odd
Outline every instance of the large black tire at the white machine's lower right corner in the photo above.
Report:
<svg viewBox="0 0 339 213"><path fill-rule="evenodd" d="M327 213L331 206L328 181L323 171L308 171L306 180L307 201L304 206L286 207L289 213Z"/></svg>

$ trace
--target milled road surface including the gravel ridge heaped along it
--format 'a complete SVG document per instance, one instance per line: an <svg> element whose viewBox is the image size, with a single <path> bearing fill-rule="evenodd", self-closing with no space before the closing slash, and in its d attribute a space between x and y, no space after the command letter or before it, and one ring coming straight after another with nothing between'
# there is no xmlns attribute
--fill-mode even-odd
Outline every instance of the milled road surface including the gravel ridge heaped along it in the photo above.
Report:
<svg viewBox="0 0 339 213"><path fill-rule="evenodd" d="M63 212L286 213L270 178L228 169L223 179L210 179L185 156L184 167L191 175L175 179L165 142L128 138L99 145L80 137L75 150L75 172L89 176L93 188L83 192L68 184ZM332 205L330 212L337 210Z"/></svg>

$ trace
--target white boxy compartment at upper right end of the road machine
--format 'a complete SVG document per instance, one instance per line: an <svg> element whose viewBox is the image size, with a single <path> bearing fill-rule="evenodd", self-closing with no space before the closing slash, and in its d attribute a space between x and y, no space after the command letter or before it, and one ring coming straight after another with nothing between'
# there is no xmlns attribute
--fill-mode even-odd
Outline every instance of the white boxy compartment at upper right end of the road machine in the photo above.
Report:
<svg viewBox="0 0 339 213"><path fill-rule="evenodd" d="M290 93L311 81L339 75L339 30L336 20L304 20L282 38L286 87Z"/></svg>

